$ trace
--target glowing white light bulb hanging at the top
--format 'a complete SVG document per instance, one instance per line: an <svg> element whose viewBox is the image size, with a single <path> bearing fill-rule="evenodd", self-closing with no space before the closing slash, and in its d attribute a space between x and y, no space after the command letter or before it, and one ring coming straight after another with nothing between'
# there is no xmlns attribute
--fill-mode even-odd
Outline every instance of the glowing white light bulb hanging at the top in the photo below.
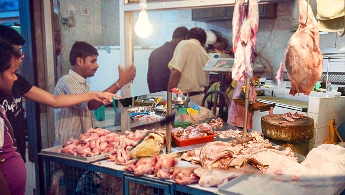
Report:
<svg viewBox="0 0 345 195"><path fill-rule="evenodd" d="M137 23L134 26L134 32L136 32L140 38L147 38L152 34L152 25L148 20L146 0L140 0L139 6L141 7L141 11Z"/></svg>

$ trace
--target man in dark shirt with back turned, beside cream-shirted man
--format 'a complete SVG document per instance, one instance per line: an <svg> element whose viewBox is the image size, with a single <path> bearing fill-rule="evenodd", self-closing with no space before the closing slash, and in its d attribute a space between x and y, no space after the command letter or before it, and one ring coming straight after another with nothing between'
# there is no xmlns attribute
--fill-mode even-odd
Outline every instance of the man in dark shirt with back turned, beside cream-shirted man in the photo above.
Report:
<svg viewBox="0 0 345 195"><path fill-rule="evenodd" d="M178 27L173 32L173 39L170 42L153 50L148 59L147 84L150 93L167 91L170 77L168 64L173 58L173 51L176 45L185 40L188 34L186 27Z"/></svg>

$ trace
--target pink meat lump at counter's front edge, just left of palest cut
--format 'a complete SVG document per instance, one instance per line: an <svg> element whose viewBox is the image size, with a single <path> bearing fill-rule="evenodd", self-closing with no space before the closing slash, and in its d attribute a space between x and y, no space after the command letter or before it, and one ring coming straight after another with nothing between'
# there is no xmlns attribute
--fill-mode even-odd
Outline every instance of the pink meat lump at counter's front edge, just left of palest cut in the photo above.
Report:
<svg viewBox="0 0 345 195"><path fill-rule="evenodd" d="M194 173L196 168L198 167L176 167L173 171L172 179L180 185L197 183L199 177Z"/></svg>

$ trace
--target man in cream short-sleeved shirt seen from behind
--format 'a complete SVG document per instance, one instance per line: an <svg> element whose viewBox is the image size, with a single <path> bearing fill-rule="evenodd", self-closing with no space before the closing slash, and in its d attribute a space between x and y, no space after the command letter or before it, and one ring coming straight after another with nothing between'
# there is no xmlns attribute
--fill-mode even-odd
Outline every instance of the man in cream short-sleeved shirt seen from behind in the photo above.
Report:
<svg viewBox="0 0 345 195"><path fill-rule="evenodd" d="M201 105L204 97L204 86L208 85L208 72L203 68L208 60L204 48L207 39L206 32L198 27L189 30L187 40L179 42L169 63L172 70L168 90L179 88L184 95Z"/></svg>

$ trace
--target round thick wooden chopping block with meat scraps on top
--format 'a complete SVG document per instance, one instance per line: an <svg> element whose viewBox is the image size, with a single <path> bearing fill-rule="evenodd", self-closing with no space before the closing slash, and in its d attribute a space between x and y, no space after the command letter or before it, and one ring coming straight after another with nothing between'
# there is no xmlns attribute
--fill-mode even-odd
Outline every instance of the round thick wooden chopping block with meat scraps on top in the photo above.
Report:
<svg viewBox="0 0 345 195"><path fill-rule="evenodd" d="M282 115L261 117L262 133L269 138L288 142L307 141L313 136L314 120L311 117L283 124L279 124L279 121L285 121Z"/></svg>

